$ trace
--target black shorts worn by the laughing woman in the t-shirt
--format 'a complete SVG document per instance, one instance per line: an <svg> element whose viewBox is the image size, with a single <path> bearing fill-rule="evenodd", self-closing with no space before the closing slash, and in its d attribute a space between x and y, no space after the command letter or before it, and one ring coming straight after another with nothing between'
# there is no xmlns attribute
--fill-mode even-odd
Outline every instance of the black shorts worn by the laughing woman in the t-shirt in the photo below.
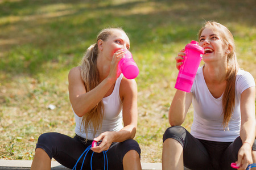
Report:
<svg viewBox="0 0 256 170"><path fill-rule="evenodd" d="M230 169L231 163L237 161L242 140L238 137L234 142L214 142L196 139L181 126L172 126L163 135L163 142L172 138L183 147L184 166L189 169ZM256 141L253 144L256 150ZM171 152L171 151L170 151Z"/></svg>

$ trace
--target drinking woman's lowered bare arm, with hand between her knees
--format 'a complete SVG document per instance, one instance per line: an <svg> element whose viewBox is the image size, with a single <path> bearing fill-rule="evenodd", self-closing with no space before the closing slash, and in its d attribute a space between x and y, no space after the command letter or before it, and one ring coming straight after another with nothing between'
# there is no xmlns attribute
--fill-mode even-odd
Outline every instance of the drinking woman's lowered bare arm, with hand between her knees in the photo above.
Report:
<svg viewBox="0 0 256 170"><path fill-rule="evenodd" d="M108 150L113 142L123 142L135 137L138 120L137 83L134 79L128 80L123 78L119 92L123 102L122 112L124 127L120 131L106 131L95 138L95 141L102 140L102 142L100 146L92 148L94 152Z"/></svg>

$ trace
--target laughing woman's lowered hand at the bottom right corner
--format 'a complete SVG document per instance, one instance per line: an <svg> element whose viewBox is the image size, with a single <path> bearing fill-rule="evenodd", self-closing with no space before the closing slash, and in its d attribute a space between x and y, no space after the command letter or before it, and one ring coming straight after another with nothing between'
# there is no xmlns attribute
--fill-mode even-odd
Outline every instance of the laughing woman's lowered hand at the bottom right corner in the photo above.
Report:
<svg viewBox="0 0 256 170"><path fill-rule="evenodd" d="M238 151L238 160L236 162L239 170L245 170L248 165L253 163L253 158L251 157L251 147L247 143L243 143L242 147Z"/></svg>

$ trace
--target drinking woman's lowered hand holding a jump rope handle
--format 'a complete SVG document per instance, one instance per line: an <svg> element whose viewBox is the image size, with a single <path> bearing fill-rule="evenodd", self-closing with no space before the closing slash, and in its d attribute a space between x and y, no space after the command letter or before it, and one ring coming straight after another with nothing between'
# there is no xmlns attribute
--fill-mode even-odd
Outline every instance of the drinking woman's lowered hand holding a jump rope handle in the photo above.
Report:
<svg viewBox="0 0 256 170"><path fill-rule="evenodd" d="M114 131L105 131L104 133L100 134L97 138L94 138L94 141L101 141L101 143L98 146L92 147L91 150L97 153L107 151L113 142L115 136L114 133Z"/></svg>

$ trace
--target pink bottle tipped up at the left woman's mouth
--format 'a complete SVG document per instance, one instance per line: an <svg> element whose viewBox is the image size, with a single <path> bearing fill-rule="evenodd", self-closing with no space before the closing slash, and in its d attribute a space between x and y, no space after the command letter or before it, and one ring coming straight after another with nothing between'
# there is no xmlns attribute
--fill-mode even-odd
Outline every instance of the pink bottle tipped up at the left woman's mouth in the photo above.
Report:
<svg viewBox="0 0 256 170"><path fill-rule="evenodd" d="M127 79L134 79L138 76L139 68L134 62L133 56L129 50L126 50L125 57L119 61L118 69Z"/></svg>

